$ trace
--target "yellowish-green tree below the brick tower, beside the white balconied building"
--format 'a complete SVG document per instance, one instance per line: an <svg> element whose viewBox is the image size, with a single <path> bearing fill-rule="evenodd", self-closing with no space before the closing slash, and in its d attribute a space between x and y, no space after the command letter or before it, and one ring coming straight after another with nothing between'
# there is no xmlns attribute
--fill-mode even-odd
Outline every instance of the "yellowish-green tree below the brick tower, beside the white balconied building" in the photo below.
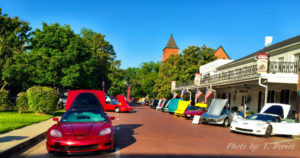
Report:
<svg viewBox="0 0 300 158"><path fill-rule="evenodd" d="M154 92L159 98L170 98L172 80L182 83L192 80L199 67L215 60L214 50L203 45L188 46L180 55L172 55L162 63L159 76L155 80Z"/></svg>

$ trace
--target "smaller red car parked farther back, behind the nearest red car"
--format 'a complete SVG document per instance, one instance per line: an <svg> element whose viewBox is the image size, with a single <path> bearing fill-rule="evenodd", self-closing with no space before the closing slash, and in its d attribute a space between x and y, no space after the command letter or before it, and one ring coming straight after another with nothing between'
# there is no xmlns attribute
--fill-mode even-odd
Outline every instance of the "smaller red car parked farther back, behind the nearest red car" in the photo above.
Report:
<svg viewBox="0 0 300 158"><path fill-rule="evenodd" d="M111 110L115 112L129 112L131 107L127 104L125 97L123 95L117 95L117 100L113 100L112 104L106 104L106 110Z"/></svg>

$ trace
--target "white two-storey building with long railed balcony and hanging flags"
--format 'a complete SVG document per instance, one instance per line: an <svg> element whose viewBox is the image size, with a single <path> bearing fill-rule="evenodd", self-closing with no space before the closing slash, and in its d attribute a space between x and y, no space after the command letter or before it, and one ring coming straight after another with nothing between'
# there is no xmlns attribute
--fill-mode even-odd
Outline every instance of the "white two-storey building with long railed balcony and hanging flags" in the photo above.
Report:
<svg viewBox="0 0 300 158"><path fill-rule="evenodd" d="M273 45L270 37L266 37L266 42L265 48L238 60L221 58L202 65L198 82L178 84L172 91L184 88L195 93L199 89L205 95L208 88L214 92L209 100L228 99L230 108L246 106L249 112L260 112L265 103L290 104L289 117L294 118L300 36ZM203 100L200 97L198 101Z"/></svg>

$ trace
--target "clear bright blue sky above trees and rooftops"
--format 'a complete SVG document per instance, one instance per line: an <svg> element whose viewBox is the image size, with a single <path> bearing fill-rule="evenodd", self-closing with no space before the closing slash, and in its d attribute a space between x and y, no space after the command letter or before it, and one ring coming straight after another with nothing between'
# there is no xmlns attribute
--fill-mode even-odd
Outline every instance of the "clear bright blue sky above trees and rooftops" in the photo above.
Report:
<svg viewBox="0 0 300 158"><path fill-rule="evenodd" d="M69 24L106 35L122 68L158 61L171 33L180 52L222 45L232 59L300 35L299 0L1 0L3 13L40 28Z"/></svg>

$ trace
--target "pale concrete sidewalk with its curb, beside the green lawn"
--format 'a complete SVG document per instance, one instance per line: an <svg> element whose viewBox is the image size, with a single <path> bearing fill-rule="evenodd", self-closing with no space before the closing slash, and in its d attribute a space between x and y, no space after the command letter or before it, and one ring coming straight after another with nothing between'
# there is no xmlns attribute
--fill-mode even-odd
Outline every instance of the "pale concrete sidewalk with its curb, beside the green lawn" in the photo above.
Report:
<svg viewBox="0 0 300 158"><path fill-rule="evenodd" d="M56 122L51 119L0 134L0 157L10 155L27 145L45 138L45 133Z"/></svg>

